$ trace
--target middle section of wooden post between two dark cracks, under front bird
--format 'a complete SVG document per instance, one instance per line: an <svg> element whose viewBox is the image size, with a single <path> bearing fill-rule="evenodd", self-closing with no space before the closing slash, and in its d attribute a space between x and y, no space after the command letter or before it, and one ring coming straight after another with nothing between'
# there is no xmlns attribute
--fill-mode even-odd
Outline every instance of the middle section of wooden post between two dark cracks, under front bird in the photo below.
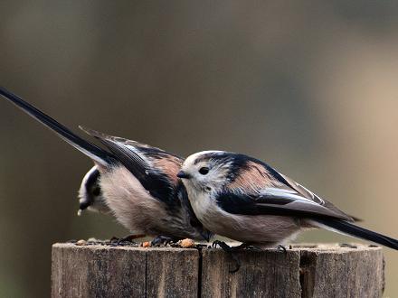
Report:
<svg viewBox="0 0 398 298"><path fill-rule="evenodd" d="M236 261L221 249L204 249L203 297L300 297L300 253L242 251L234 256L240 269L231 274Z"/></svg>

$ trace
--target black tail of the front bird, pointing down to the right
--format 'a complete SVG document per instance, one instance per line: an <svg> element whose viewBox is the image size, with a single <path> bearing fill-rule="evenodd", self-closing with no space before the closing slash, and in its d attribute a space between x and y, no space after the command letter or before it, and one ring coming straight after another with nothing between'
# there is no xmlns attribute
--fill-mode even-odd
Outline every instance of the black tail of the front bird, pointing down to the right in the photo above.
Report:
<svg viewBox="0 0 398 298"><path fill-rule="evenodd" d="M315 219L318 223L329 228L336 229L344 234L359 237L384 247L390 247L398 250L398 240L392 237L384 236L366 228L358 227L355 224L341 219Z"/></svg>

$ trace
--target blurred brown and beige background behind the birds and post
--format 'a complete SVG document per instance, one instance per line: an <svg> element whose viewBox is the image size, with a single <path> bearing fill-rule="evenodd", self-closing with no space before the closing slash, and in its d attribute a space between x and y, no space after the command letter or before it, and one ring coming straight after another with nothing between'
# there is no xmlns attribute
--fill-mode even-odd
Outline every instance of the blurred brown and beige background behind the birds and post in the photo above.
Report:
<svg viewBox="0 0 398 298"><path fill-rule="evenodd" d="M397 32L393 1L7 0L0 85L73 128L254 155L398 237ZM3 99L0 135L0 296L45 297L53 242L126 230L76 217L90 160Z"/></svg>

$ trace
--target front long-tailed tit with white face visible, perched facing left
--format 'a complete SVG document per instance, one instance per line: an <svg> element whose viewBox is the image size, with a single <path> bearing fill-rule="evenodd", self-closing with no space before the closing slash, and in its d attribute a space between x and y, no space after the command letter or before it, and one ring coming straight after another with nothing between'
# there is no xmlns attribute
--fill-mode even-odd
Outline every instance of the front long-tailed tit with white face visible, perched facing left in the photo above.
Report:
<svg viewBox="0 0 398 298"><path fill-rule="evenodd" d="M398 240L356 226L332 203L244 154L193 154L177 176L204 227L243 245L273 247L303 229L327 228L398 249Z"/></svg>

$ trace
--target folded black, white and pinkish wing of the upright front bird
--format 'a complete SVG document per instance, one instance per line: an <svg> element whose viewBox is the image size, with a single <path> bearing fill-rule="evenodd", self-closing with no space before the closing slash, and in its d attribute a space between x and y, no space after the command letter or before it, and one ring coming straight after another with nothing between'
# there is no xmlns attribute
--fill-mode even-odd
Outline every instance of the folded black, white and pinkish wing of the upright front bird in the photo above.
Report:
<svg viewBox="0 0 398 298"><path fill-rule="evenodd" d="M353 221L332 203L268 164L247 158L244 170L217 196L217 203L223 210L245 215L275 214Z"/></svg>

